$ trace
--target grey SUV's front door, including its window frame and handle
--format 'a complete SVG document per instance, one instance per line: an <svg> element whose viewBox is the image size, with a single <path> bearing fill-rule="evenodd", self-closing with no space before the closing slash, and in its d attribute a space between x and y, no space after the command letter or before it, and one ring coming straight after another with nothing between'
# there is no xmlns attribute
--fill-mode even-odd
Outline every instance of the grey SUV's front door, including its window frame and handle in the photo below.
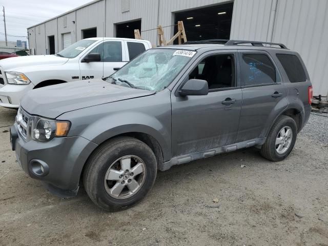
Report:
<svg viewBox="0 0 328 246"><path fill-rule="evenodd" d="M235 64L234 52L204 55L183 81L207 80L209 94L182 97L172 92L173 156L235 143L242 99Z"/></svg>

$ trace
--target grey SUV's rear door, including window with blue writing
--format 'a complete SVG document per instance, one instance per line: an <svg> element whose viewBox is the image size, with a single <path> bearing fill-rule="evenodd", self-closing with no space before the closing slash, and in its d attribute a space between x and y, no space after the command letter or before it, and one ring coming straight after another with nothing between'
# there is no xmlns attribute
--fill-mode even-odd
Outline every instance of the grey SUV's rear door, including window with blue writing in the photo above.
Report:
<svg viewBox="0 0 328 246"><path fill-rule="evenodd" d="M288 101L286 88L269 53L239 51L239 61L242 106L237 142L242 142L265 137L265 126L287 107Z"/></svg>

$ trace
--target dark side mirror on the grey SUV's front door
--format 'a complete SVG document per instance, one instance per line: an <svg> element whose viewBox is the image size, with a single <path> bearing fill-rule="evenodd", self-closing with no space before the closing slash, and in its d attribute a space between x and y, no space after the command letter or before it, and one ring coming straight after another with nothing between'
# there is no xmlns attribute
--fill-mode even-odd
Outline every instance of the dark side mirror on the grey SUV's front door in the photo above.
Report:
<svg viewBox="0 0 328 246"><path fill-rule="evenodd" d="M203 96L209 94L209 85L206 80L189 79L179 91L181 96Z"/></svg>

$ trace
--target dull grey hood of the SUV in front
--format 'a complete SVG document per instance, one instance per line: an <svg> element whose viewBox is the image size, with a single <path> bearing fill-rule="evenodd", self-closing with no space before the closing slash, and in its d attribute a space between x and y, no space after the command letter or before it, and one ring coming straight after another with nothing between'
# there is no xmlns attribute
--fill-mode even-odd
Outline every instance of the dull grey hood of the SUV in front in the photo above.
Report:
<svg viewBox="0 0 328 246"><path fill-rule="evenodd" d="M20 105L30 114L54 119L68 111L153 94L155 91L91 79L31 90L20 101Z"/></svg>

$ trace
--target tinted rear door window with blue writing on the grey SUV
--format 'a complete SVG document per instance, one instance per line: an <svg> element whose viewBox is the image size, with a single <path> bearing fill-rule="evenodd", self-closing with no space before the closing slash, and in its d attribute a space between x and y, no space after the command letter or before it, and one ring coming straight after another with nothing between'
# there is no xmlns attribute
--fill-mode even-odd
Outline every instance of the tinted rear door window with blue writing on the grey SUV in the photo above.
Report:
<svg viewBox="0 0 328 246"><path fill-rule="evenodd" d="M241 78L245 86L276 82L276 69L267 55L243 54Z"/></svg>

